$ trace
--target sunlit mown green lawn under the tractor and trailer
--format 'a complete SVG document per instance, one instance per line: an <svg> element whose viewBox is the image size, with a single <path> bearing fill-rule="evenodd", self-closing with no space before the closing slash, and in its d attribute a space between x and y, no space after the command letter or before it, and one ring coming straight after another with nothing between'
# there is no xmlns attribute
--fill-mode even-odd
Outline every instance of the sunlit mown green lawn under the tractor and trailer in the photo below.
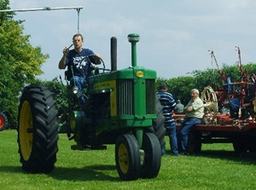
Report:
<svg viewBox="0 0 256 190"><path fill-rule="evenodd" d="M27 174L21 170L15 130L0 132L0 188L8 189L255 189L256 154L237 156L231 144L203 145L197 156L162 157L154 179L120 181L114 146L107 150L73 151L60 135L55 170ZM166 141L168 139L166 138ZM170 149L170 147L167 147Z"/></svg>

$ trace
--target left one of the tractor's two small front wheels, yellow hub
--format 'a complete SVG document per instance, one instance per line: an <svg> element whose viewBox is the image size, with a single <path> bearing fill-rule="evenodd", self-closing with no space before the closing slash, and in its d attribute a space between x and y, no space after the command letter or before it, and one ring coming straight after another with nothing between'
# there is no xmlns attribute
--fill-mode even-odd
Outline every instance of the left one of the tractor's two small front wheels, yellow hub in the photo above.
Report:
<svg viewBox="0 0 256 190"><path fill-rule="evenodd" d="M140 177L141 158L134 135L119 135L115 144L115 163L122 180L131 181Z"/></svg>

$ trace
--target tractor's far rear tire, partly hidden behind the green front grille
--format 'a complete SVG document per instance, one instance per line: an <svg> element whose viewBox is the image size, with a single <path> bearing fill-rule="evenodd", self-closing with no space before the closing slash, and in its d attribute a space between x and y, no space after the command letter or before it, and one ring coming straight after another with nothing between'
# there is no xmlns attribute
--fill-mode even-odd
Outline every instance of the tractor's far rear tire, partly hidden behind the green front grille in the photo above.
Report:
<svg viewBox="0 0 256 190"><path fill-rule="evenodd" d="M153 120L153 128L152 132L157 136L160 141L160 147L165 146L165 135L166 135L166 127L165 127L165 117L163 115L162 106L160 104L160 98L156 96L155 98L155 107L156 107L156 116L157 118Z"/></svg>

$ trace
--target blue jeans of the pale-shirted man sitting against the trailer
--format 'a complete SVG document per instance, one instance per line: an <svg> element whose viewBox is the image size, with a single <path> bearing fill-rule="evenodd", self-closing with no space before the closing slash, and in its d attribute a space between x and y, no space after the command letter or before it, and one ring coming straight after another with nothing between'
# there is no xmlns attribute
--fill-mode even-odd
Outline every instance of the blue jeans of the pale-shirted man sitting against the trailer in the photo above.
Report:
<svg viewBox="0 0 256 190"><path fill-rule="evenodd" d="M178 150L180 153L188 153L188 135L189 131L195 127L195 124L201 124L201 118L185 118L180 130L177 131Z"/></svg>

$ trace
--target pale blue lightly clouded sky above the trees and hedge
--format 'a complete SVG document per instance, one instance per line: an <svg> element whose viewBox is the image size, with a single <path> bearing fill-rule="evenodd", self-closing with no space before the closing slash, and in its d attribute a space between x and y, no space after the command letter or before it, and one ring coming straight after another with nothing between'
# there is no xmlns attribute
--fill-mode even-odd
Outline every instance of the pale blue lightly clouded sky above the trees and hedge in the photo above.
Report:
<svg viewBox="0 0 256 190"><path fill-rule="evenodd" d="M188 76L194 70L216 68L208 50L214 51L218 65L236 64L236 46L241 62L256 62L256 1L253 0L10 0L11 9L82 6L79 32L84 48L102 55L110 68L110 38L118 39L118 69L131 66L129 33L138 33L137 65L157 71L159 78ZM17 12L33 46L49 54L41 79L63 76L58 69L62 49L78 32L75 9Z"/></svg>

